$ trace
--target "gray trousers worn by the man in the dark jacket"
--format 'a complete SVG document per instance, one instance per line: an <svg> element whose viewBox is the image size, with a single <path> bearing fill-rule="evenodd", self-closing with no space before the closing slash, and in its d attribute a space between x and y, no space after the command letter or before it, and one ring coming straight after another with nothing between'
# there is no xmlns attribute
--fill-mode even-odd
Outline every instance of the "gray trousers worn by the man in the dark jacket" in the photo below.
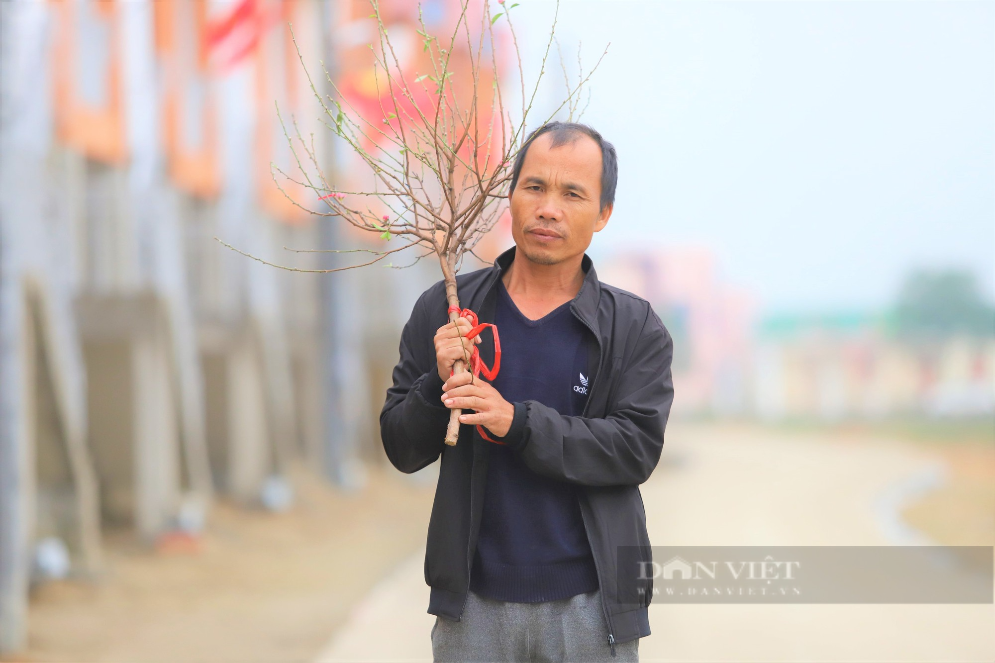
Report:
<svg viewBox="0 0 995 663"><path fill-rule="evenodd" d="M598 589L541 603L497 601L473 591L460 621L436 617L435 661L639 661L639 638L608 647Z"/></svg>

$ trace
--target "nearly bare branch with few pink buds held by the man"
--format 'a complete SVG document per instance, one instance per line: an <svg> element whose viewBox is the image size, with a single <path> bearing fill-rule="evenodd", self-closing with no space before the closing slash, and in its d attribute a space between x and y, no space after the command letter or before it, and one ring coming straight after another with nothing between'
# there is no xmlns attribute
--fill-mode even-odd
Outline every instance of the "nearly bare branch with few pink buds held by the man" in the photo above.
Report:
<svg viewBox="0 0 995 663"><path fill-rule="evenodd" d="M559 42L555 39L559 18L557 1L539 72L534 86L528 90L518 38L511 21L511 10L516 5L504 5L499 14L493 15L488 2L460 0L459 11L442 40L429 33L419 7L420 29L416 32L423 40L422 56L428 61L428 72L420 73L417 66L406 66L403 63L407 61L399 57L393 39L397 35L392 36L384 24L379 0L369 2L377 30L376 39L369 48L376 94L374 106L379 116L360 111L357 106L368 108L369 104L358 104L344 95L323 62L321 70L333 95L322 96L308 72L293 30L291 38L311 95L321 110L318 121L328 129L328 139L340 141L345 152L354 155L356 162L373 175L372 190L354 190L355 186L333 184L325 172L326 166L318 158L313 133L309 141L305 140L297 117L292 114L292 134L279 106L277 117L298 172L289 173L286 167L273 164L271 174L279 190L301 212L331 217L329 222L341 219L360 230L378 233L384 241L405 236L404 242L389 250L284 247L294 253L369 253L375 256L357 265L317 270L278 265L215 239L265 265L322 274L373 265L390 254L418 245L423 251L414 262L403 266L388 263L382 267L406 269L435 254L443 272L448 304L458 310L456 274L462 268L466 254L491 264L475 252L475 248L507 209L511 163L524 146L529 115L553 43L559 53L567 97L538 125L549 121L564 107L568 119L577 115L580 94L605 54L585 75L578 51L578 82L571 84ZM504 30L505 26L507 32L501 34L510 35L518 71L517 87L521 96L518 117L511 116L500 85L504 80L504 61L497 57L497 31ZM307 199L295 199L290 195L278 181L278 174L292 182L298 194L305 191ZM326 211L310 209L312 205ZM451 313L450 321L457 317L457 313ZM467 364L468 361L457 361L454 371L463 372ZM459 414L460 410L451 411L447 444L456 443Z"/></svg>

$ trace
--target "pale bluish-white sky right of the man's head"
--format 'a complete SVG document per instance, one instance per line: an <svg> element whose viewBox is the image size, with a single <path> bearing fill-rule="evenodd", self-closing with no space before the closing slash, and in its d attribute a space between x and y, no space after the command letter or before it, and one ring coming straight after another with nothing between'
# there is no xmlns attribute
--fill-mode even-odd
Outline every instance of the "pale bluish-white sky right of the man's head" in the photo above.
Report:
<svg viewBox="0 0 995 663"><path fill-rule="evenodd" d="M554 5L518 1L535 72ZM619 151L595 260L703 244L767 310L875 308L914 266L995 291L995 3L565 0L556 33L586 67L611 43L582 117Z"/></svg>

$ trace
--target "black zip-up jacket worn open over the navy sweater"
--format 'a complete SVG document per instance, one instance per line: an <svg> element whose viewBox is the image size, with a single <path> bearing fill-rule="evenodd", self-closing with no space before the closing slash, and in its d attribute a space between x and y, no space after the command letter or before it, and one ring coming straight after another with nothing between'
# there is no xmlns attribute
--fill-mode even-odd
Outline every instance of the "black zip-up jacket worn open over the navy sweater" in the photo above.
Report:
<svg viewBox="0 0 995 663"><path fill-rule="evenodd" d="M476 312L481 323L494 322L497 279L514 254L511 247L493 267L456 278L461 307ZM663 450L674 400L674 342L646 300L598 281L586 254L581 269L584 283L570 311L590 331L584 413L567 416L534 400L515 402L510 429L496 439L521 454L532 471L580 487L581 515L608 622L605 635L614 655L615 643L650 634L653 578L619 568L619 547L638 547L625 550L652 560L639 485L649 479ZM425 581L432 588L428 612L459 620L493 443L476 426L462 424L457 444L446 445L450 409L438 396L426 396L441 393L433 338L449 320L447 309L442 281L415 303L401 333L394 384L380 412L380 437L401 472L417 472L442 455L425 553ZM494 344L486 339L478 347L481 358L493 365Z"/></svg>

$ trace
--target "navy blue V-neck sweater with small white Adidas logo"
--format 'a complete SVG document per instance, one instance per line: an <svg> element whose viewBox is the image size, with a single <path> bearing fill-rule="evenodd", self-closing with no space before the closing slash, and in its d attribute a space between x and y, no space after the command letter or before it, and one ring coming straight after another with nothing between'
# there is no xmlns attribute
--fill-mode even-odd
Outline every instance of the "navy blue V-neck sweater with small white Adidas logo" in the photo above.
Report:
<svg viewBox="0 0 995 663"><path fill-rule="evenodd" d="M502 281L497 289L497 391L511 403L536 400L560 414L582 414L587 330L570 313L570 303L531 321L515 307ZM489 598L521 602L597 589L576 487L536 474L504 445L492 444L489 453L470 588Z"/></svg>

